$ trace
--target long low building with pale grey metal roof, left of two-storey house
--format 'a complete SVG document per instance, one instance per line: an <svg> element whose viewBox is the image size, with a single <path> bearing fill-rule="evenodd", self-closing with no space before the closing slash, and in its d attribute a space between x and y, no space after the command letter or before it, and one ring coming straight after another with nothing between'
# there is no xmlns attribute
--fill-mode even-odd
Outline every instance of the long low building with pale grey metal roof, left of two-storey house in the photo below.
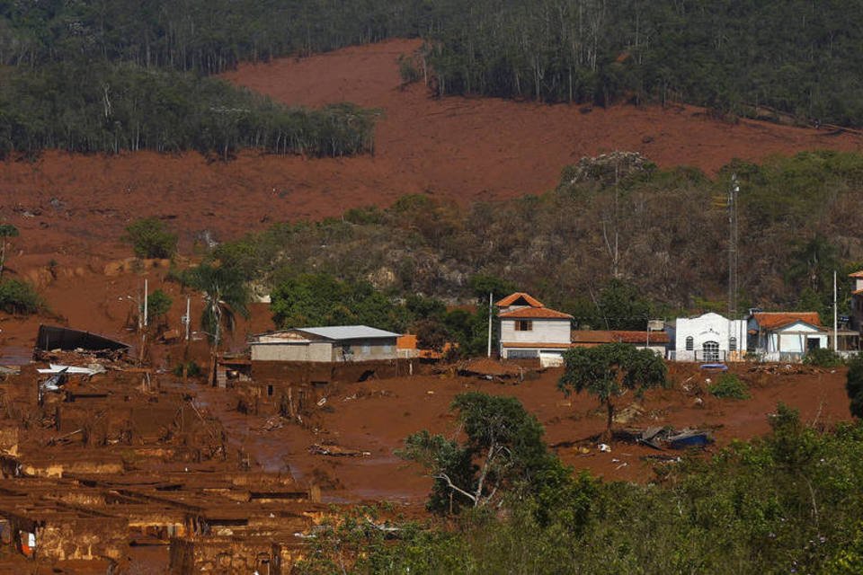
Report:
<svg viewBox="0 0 863 575"><path fill-rule="evenodd" d="M304 327L267 332L249 341L252 361L371 361L395 359L399 334L367 325Z"/></svg>

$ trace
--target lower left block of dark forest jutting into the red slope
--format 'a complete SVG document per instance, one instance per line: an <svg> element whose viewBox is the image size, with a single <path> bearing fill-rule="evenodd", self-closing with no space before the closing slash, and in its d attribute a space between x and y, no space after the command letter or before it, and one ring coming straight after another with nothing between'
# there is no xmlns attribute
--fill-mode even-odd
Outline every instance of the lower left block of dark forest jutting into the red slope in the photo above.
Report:
<svg viewBox="0 0 863 575"><path fill-rule="evenodd" d="M129 63L51 64L0 78L0 157L45 148L342 156L374 146L375 111L288 108L215 78Z"/></svg>

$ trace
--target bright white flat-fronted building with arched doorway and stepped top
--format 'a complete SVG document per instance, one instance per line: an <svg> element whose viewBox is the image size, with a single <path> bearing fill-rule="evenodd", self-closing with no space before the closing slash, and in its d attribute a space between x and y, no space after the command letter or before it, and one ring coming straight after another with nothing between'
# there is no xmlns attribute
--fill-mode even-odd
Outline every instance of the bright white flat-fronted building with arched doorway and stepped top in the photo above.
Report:
<svg viewBox="0 0 863 575"><path fill-rule="evenodd" d="M679 317L667 329L674 361L742 361L746 352L746 321L720 314Z"/></svg>

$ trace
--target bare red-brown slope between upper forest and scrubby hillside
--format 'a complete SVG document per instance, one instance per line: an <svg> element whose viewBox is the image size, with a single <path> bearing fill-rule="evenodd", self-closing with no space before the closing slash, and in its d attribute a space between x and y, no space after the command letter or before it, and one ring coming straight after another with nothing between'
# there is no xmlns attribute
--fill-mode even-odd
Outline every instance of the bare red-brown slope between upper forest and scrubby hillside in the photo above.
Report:
<svg viewBox="0 0 863 575"><path fill-rule="evenodd" d="M396 57L417 47L392 40L303 59L240 66L226 79L281 102L351 101L382 111L376 154L307 159L244 153L232 162L198 154L67 155L0 164L0 220L22 229L29 268L120 257L122 229L164 218L191 249L199 234L235 237L273 222L338 216L428 192L467 203L538 193L583 155L641 152L664 167L716 172L734 157L758 160L812 148L857 150L863 138L827 130L708 119L692 107L608 110L497 99L433 99L403 88Z"/></svg>

